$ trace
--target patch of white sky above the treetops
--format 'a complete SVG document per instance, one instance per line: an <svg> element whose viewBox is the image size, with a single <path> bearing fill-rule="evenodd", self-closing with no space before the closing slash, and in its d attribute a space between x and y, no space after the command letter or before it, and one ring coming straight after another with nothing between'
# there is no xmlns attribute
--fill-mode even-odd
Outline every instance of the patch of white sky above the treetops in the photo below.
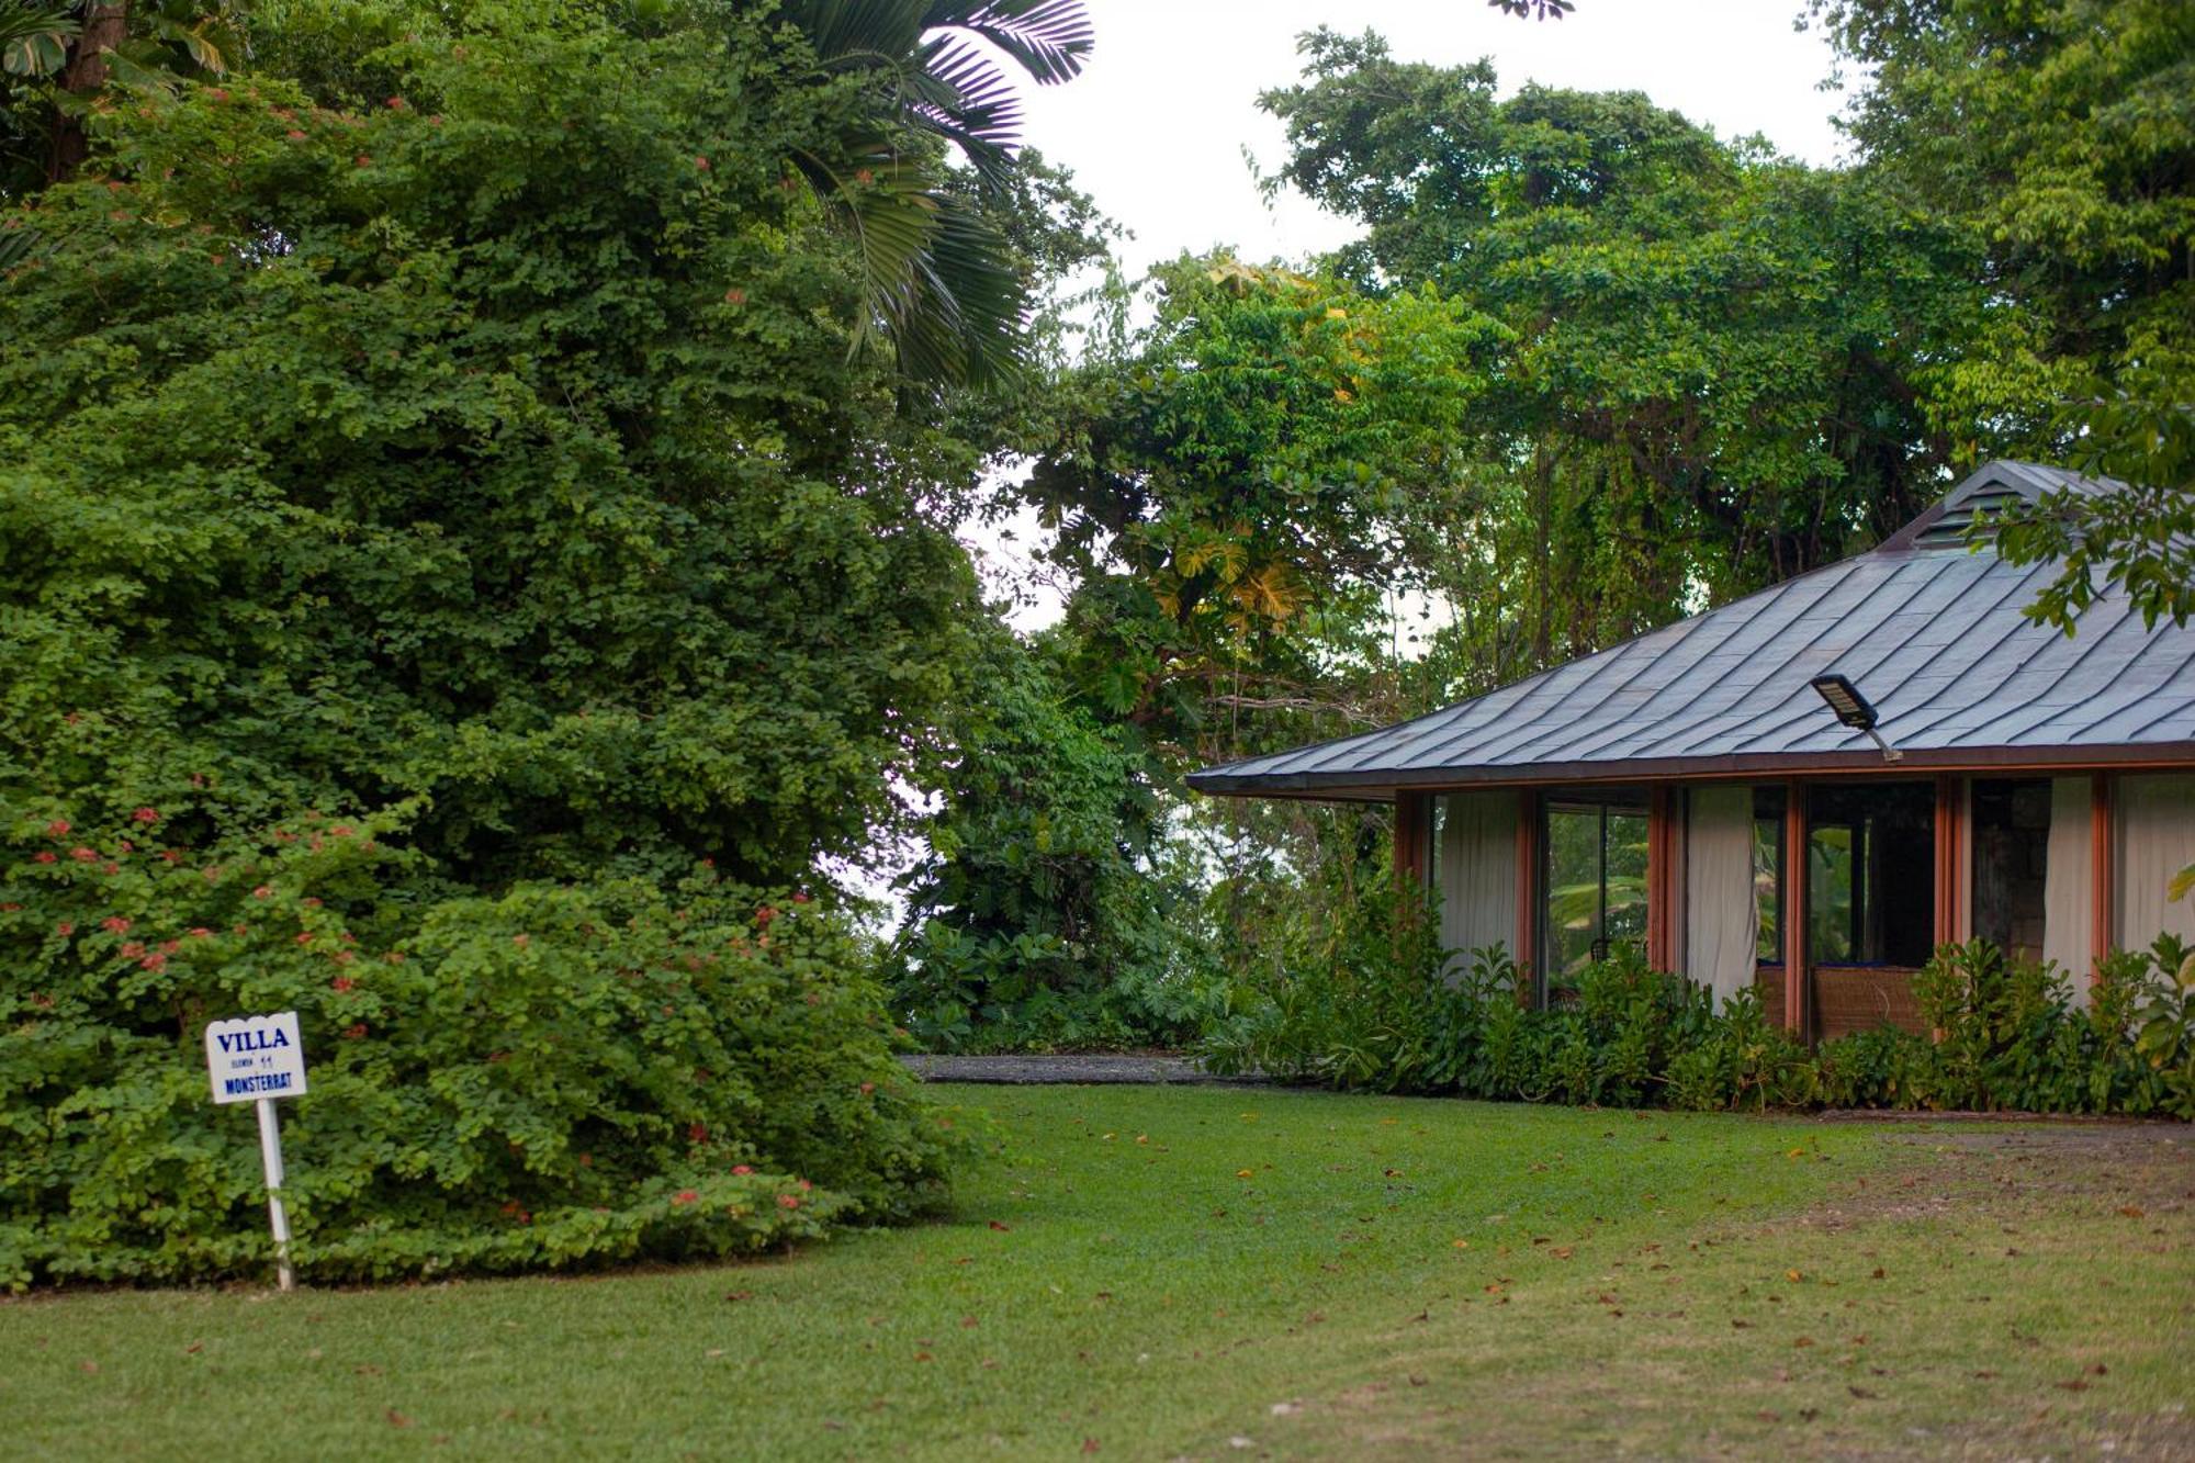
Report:
<svg viewBox="0 0 2195 1463"><path fill-rule="evenodd" d="M1820 31L1802 0L1576 0L1567 20L1517 20L1486 0L1089 0L1098 51L1065 86L1027 86L1025 138L1126 224L1133 275L1214 244L1295 259L1354 228L1282 193L1269 213L1242 149L1273 169L1280 123L1258 92L1299 77L1295 37L1378 31L1400 62L1493 57L1501 94L1526 81L1640 90L1721 136L1767 134L1809 163L1837 158L1820 90Z"/></svg>

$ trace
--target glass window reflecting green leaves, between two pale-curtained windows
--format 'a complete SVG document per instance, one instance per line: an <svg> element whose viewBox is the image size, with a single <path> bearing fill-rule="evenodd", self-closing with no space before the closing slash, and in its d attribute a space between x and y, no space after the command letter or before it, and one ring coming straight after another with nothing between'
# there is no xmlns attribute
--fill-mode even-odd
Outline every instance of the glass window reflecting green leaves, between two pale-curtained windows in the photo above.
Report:
<svg viewBox="0 0 2195 1463"><path fill-rule="evenodd" d="M1556 978L1618 945L1646 945L1646 806L1635 795L1545 804L1547 969Z"/></svg>

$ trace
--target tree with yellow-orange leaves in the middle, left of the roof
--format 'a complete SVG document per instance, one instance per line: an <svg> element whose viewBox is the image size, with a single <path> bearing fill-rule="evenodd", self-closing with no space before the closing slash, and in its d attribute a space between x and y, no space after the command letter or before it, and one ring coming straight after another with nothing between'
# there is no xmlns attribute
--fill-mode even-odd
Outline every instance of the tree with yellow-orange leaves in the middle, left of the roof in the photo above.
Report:
<svg viewBox="0 0 2195 1463"><path fill-rule="evenodd" d="M1501 332L1436 292L1229 257L1155 281L1157 316L1084 367L1021 492L1076 584L1076 685L1179 751L1245 679L1249 701L1310 688L1385 626L1464 512L1455 444Z"/></svg>

